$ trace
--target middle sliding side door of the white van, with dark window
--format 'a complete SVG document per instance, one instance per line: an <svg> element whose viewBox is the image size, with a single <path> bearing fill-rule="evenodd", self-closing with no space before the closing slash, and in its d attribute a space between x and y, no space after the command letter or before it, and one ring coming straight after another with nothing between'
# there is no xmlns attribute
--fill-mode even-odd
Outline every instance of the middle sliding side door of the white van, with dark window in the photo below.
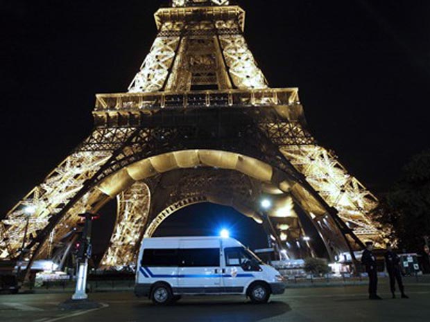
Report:
<svg viewBox="0 0 430 322"><path fill-rule="evenodd" d="M221 293L220 241L180 240L178 291L182 294Z"/></svg>

